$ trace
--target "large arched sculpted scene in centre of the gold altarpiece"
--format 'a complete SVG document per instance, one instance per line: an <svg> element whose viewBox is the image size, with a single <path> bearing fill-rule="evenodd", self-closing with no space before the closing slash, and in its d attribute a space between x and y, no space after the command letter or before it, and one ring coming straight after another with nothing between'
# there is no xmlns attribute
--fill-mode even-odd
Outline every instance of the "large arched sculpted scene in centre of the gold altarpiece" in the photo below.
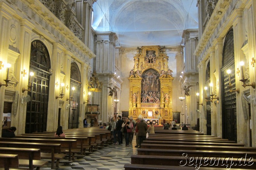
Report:
<svg viewBox="0 0 256 170"><path fill-rule="evenodd" d="M141 75L141 103L160 103L159 73L148 69Z"/></svg>

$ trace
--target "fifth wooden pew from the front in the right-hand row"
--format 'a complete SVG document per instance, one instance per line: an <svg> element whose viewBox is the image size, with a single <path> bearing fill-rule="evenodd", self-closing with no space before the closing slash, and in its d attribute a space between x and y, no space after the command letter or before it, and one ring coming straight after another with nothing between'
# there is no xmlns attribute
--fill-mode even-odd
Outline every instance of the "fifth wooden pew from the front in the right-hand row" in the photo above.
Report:
<svg viewBox="0 0 256 170"><path fill-rule="evenodd" d="M211 145L211 146L245 146L245 144L237 143L212 143L212 142L176 142L176 141L157 141L157 140L144 140L143 144L184 144L184 145Z"/></svg>

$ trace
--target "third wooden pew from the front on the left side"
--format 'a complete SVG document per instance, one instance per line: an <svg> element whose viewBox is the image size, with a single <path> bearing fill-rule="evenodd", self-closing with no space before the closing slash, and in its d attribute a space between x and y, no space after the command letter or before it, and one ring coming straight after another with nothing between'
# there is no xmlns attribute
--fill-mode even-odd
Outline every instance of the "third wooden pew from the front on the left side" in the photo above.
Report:
<svg viewBox="0 0 256 170"><path fill-rule="evenodd" d="M41 150L41 158L51 159L51 168L54 169L54 161L56 160L56 167L59 166L60 159L63 159L66 154L61 152L60 144L45 144L45 143L27 143L27 142L2 142L0 147L17 147L19 148L35 148Z"/></svg>

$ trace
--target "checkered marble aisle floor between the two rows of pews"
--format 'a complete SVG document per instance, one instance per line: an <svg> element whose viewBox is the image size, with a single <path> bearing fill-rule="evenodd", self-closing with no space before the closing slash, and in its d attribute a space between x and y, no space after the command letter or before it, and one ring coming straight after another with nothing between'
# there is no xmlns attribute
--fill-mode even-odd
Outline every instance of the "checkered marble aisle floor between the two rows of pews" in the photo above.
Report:
<svg viewBox="0 0 256 170"><path fill-rule="evenodd" d="M123 139L124 141L124 139ZM122 145L110 144L102 149L84 156L76 158L74 162L69 164L59 164L59 170L120 170L124 169L124 164L131 163L131 155L137 154L135 136L132 144L125 147ZM51 169L51 164L43 166L41 169Z"/></svg>

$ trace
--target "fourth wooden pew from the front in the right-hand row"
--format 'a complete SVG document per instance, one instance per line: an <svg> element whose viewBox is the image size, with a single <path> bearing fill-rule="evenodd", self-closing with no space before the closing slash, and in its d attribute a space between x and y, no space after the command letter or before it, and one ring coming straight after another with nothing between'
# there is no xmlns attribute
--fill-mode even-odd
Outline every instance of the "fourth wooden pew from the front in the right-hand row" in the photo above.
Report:
<svg viewBox="0 0 256 170"><path fill-rule="evenodd" d="M145 149L178 149L178 150L197 150L197 151L240 151L240 152L256 152L256 147L243 146L211 146L211 145L178 145L178 144L141 144L141 148Z"/></svg>

